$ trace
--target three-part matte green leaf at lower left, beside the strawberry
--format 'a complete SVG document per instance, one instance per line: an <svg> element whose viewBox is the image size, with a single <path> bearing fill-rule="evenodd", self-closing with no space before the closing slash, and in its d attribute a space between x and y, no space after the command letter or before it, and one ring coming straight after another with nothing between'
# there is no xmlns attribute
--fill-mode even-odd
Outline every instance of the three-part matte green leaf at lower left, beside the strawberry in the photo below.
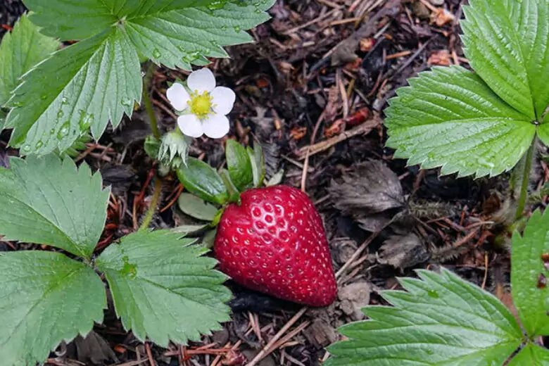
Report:
<svg viewBox="0 0 549 366"><path fill-rule="evenodd" d="M101 323L107 300L96 272L122 324L141 341L186 343L229 320L226 277L193 239L141 230L98 255L109 196L101 175L56 156L10 164L0 168L0 205L9 208L0 210L0 233L56 250L0 253L3 365L42 362L61 341Z"/></svg>

